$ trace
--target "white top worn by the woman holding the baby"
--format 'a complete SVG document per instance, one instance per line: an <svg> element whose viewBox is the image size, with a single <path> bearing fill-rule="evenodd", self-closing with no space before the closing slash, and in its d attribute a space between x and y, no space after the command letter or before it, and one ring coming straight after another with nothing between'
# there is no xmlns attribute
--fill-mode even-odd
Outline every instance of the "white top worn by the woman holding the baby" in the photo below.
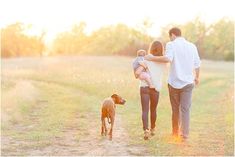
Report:
<svg viewBox="0 0 235 157"><path fill-rule="evenodd" d="M162 88L162 78L164 71L166 70L166 63L158 63L153 61L144 61L148 67L148 73L150 74L151 81L155 89L159 92ZM148 86L145 81L140 81L140 87Z"/></svg>

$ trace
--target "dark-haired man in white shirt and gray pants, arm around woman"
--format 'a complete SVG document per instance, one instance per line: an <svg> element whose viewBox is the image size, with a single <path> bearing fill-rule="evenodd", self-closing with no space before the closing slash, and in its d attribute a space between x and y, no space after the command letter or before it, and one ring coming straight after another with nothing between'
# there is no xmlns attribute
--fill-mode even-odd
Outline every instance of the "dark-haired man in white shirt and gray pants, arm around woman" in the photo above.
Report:
<svg viewBox="0 0 235 157"><path fill-rule="evenodd" d="M192 90L199 84L200 58L193 43L181 37L179 28L169 30L170 42L166 44L165 56L145 57L155 62L170 62L168 78L172 107L172 134L186 140L189 136L190 106ZM194 72L195 71L195 76Z"/></svg>

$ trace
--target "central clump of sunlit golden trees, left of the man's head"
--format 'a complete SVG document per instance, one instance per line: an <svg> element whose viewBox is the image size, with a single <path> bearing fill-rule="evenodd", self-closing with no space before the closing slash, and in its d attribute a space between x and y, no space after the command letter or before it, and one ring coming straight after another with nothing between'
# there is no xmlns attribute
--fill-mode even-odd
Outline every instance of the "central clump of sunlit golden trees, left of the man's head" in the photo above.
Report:
<svg viewBox="0 0 235 157"><path fill-rule="evenodd" d="M124 24L101 27L87 36L84 25L57 36L53 44L54 53L93 55L133 55L144 48L152 38Z"/></svg>

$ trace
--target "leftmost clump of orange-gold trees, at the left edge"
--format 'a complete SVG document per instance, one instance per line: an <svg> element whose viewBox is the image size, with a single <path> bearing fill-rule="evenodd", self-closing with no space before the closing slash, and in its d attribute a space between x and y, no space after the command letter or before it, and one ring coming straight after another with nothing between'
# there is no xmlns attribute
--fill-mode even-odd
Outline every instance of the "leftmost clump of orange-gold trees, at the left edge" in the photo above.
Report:
<svg viewBox="0 0 235 157"><path fill-rule="evenodd" d="M19 57L40 55L45 50L43 41L45 32L40 37L24 34L26 26L15 23L1 29L1 56Z"/></svg>

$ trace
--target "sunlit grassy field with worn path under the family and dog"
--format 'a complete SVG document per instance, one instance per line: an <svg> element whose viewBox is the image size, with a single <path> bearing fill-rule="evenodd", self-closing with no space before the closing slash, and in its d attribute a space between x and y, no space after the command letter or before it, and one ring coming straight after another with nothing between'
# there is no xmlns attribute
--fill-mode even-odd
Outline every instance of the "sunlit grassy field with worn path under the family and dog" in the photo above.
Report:
<svg viewBox="0 0 235 157"><path fill-rule="evenodd" d="M143 140L138 80L131 58L2 59L2 155L233 155L234 69L203 61L194 89L190 139L172 142L167 83L158 104L157 133ZM167 76L165 76L166 80ZM113 141L100 137L100 107L113 93Z"/></svg>

